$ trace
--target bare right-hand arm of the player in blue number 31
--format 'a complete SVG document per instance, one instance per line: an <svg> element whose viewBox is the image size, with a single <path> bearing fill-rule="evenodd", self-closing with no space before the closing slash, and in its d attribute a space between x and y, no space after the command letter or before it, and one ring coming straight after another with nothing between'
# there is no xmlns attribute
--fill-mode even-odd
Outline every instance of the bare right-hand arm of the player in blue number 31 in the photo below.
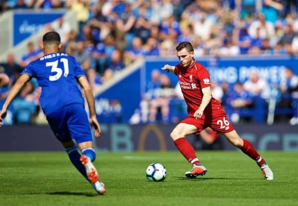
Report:
<svg viewBox="0 0 298 206"><path fill-rule="evenodd" d="M88 108L89 108L89 112L90 112L90 119L89 119L90 125L92 127L94 127L94 129L95 129L95 134L94 134L95 137L99 137L101 130L100 130L99 123L96 119L95 104L94 104L92 88L91 88L86 76L80 76L80 77L78 77L77 80L85 92L85 96L86 96L86 100L87 100Z"/></svg>

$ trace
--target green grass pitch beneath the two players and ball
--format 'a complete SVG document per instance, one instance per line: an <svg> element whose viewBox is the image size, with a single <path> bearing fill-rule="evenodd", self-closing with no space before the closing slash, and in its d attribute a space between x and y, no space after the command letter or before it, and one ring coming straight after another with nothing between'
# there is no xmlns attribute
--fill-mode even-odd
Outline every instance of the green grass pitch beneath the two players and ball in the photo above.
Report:
<svg viewBox="0 0 298 206"><path fill-rule="evenodd" d="M239 151L197 151L207 174L187 179L191 165L178 151L97 153L107 193L98 196L63 152L1 152L0 206L297 206L298 152L261 152L274 172L263 179ZM166 167L164 182L146 168Z"/></svg>

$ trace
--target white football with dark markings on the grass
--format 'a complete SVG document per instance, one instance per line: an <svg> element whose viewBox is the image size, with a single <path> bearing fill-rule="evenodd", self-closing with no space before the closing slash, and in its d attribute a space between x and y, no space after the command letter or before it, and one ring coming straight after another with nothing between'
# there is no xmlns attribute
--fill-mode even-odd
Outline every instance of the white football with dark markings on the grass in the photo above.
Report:
<svg viewBox="0 0 298 206"><path fill-rule="evenodd" d="M163 181L166 176L165 167L160 163L152 163L146 170L146 177L150 182Z"/></svg>

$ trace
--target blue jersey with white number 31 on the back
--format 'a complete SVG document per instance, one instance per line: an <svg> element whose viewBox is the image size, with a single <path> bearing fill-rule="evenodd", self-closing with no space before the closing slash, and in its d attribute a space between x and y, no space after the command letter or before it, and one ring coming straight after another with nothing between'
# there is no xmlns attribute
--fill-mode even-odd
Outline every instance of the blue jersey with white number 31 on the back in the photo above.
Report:
<svg viewBox="0 0 298 206"><path fill-rule="evenodd" d="M85 72L73 57L51 53L31 62L24 73L36 78L41 86L39 102L46 115L69 104L84 104L76 79Z"/></svg>

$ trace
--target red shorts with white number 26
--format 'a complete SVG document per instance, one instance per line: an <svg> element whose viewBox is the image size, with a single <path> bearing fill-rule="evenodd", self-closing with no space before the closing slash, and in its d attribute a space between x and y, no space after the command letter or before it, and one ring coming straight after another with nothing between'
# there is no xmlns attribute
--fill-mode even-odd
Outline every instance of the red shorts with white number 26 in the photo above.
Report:
<svg viewBox="0 0 298 206"><path fill-rule="evenodd" d="M217 133L229 133L235 130L223 108L219 108L219 110L212 113L204 113L199 119L195 119L194 114L188 114L187 118L182 120L181 123L194 125L198 129L197 134L207 127L210 127Z"/></svg>

